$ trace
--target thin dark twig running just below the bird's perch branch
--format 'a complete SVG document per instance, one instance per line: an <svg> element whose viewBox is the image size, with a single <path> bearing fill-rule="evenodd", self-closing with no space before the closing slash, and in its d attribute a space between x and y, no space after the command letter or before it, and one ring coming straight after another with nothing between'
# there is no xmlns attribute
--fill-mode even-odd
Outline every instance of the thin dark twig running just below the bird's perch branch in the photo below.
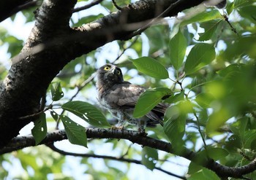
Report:
<svg viewBox="0 0 256 180"><path fill-rule="evenodd" d="M47 144L47 146L50 149L52 149L53 151L59 152L59 154L63 154L63 155L70 155L70 156L75 156L75 157L94 157L94 158L118 160L118 161L122 161L122 162L126 162L126 163L135 163L135 164L143 165L140 160L131 160L131 159L127 159L124 157L113 157L113 156L97 155L97 154L79 154L79 153L73 153L73 152L65 152L65 151L57 148L56 146L54 146L54 144ZM168 175L174 176L179 179L186 179L184 176L178 176L175 173L170 173L168 171L163 170L162 168L155 167L155 169L157 169L158 171L162 171L163 173L167 173Z"/></svg>

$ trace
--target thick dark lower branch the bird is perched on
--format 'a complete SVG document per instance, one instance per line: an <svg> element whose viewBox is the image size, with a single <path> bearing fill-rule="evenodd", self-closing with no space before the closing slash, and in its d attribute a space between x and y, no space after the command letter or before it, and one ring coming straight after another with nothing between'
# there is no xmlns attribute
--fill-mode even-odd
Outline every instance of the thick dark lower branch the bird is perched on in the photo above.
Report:
<svg viewBox="0 0 256 180"><path fill-rule="evenodd" d="M118 130L118 129L104 129L104 128L86 128L87 138L116 138L116 139L127 139L132 143L140 144L141 146L149 146L154 149L159 149L164 152L174 153L173 148L170 143L165 141L160 141L147 136L142 136L141 133L133 130ZM56 130L52 133L48 133L46 138L41 144L53 144L55 141L61 141L67 139L64 130ZM12 152L18 149L23 149L24 147L35 146L35 141L33 136L18 136L13 138L7 146L0 149L0 154L7 152ZM184 149L181 157L187 160L194 160L196 153L190 151L189 149ZM252 160L248 165L241 167L227 167L225 165L220 165L214 160L208 159L206 162L201 164L206 168L211 169L216 172L221 177L234 177L241 178L244 174L251 173L256 169L256 159Z"/></svg>

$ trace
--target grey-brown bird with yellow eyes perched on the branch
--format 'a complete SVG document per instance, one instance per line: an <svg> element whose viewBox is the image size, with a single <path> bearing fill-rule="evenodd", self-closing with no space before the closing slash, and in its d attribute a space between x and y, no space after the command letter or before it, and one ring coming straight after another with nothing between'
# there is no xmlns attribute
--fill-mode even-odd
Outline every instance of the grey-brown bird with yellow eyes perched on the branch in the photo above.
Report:
<svg viewBox="0 0 256 180"><path fill-rule="evenodd" d="M145 127L162 125L162 118L168 106L166 103L157 104L144 117L139 119L132 117L138 98L146 89L124 81L121 69L117 66L113 64L102 66L97 71L97 78L99 103L118 119L117 128L124 128L126 122L137 125L139 131L144 131Z"/></svg>

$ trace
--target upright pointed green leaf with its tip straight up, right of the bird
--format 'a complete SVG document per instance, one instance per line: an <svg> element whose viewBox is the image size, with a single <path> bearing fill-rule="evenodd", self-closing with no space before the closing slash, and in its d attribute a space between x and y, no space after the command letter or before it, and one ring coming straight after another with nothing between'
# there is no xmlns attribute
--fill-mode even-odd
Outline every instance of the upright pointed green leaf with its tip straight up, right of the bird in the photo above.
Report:
<svg viewBox="0 0 256 180"><path fill-rule="evenodd" d="M169 43L169 54L170 54L170 63L173 64L173 67L178 71L181 68L184 56L187 49L187 39L181 33L181 30L170 39Z"/></svg>

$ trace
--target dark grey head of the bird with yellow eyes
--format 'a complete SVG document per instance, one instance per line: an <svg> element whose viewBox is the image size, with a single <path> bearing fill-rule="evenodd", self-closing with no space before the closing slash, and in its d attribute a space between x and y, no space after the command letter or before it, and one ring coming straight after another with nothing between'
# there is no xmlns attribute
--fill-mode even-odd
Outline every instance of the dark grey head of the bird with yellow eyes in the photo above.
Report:
<svg viewBox="0 0 256 180"><path fill-rule="evenodd" d="M123 82L123 74L121 73L121 69L113 64L105 64L100 67L98 70L98 79L103 82L112 83L120 83Z"/></svg>

